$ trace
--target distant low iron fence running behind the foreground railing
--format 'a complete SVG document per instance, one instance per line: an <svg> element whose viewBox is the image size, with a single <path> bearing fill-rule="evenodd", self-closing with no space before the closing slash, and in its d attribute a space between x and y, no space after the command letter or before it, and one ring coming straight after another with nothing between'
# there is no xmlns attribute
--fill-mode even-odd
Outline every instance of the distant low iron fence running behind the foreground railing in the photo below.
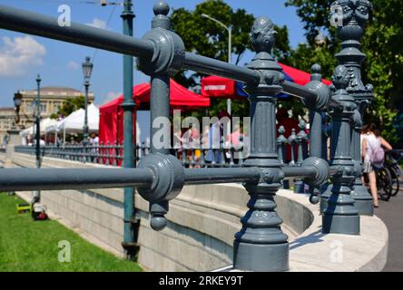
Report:
<svg viewBox="0 0 403 290"><path fill-rule="evenodd" d="M306 133L305 121L300 121L299 131L292 129L289 138L284 137L284 128L279 129L277 148L281 165L300 166L309 157L309 137ZM0 148L0 151L2 149ZM5 150L5 149L4 149ZM150 154L150 145L145 143L133 147L136 161ZM171 154L182 161L185 168L225 168L241 167L248 157L243 147L229 147L221 142L220 148L181 148L171 149ZM34 146L15 146L15 152L35 155ZM74 160L84 163L94 163L112 166L123 166L123 144L97 145L44 145L41 146L41 156L61 160Z"/></svg>

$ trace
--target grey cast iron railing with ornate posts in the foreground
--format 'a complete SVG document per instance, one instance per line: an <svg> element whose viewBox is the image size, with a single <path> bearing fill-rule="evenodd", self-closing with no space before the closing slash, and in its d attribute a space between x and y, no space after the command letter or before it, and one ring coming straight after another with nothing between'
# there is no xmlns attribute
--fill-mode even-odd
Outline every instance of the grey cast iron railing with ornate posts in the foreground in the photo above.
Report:
<svg viewBox="0 0 403 290"><path fill-rule="evenodd" d="M133 187L150 202L152 228L161 230L167 225L164 216L169 200L176 198L184 185L242 182L251 200L249 211L241 218L242 228L235 235L233 265L241 270L285 271L289 269L289 243L281 231L282 220L275 211L274 200L281 181L302 179L310 186L310 200L318 202L319 188L330 178L330 194L321 198L326 203L322 232L358 235L359 210L353 197L359 194L352 194L358 189L362 171L357 132L362 104L373 97L372 86L364 86L360 79L365 55L359 52L359 39L371 5L367 0L339 0L337 5L343 8L338 11L349 13L338 15L342 20L338 30L343 50L337 54L340 65L335 69L332 90L320 82L318 65L312 67L312 81L305 87L284 81L282 69L272 55L276 32L266 17L257 18L251 28L256 55L246 67L240 67L187 53L181 37L170 30L170 8L163 1L154 5L152 30L142 39L83 24L62 27L55 18L0 5L1 28L137 57L138 68L151 76L152 137L161 130L166 133L163 136L171 135L170 126L161 128L161 120L169 121L170 117L170 76L182 70L245 82L251 102L251 153L240 168L184 169L182 162L170 155L171 141L162 140L162 146L152 141L151 153L140 160L136 169L2 169L0 189ZM278 155L275 112L280 92L299 98L310 110L310 157L302 159L300 154L293 160L296 166L283 165ZM332 121L330 167L322 159L323 111L330 112ZM300 136L297 140L305 138ZM371 201L368 196L367 192L365 198L359 198L366 207Z"/></svg>

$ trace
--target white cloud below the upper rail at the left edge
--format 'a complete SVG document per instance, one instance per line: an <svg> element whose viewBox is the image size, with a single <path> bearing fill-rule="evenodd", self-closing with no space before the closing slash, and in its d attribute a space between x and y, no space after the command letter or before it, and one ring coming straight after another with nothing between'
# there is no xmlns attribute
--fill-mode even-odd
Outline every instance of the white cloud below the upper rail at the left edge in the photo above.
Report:
<svg viewBox="0 0 403 290"><path fill-rule="evenodd" d="M8 36L0 46L0 76L22 76L30 69L44 63L46 49L31 36Z"/></svg>

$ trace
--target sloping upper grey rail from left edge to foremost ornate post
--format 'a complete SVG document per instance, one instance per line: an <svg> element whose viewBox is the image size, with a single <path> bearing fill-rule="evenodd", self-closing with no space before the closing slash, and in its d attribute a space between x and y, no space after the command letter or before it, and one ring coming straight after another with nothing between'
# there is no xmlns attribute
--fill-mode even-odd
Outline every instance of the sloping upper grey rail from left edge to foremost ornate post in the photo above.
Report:
<svg viewBox="0 0 403 290"><path fill-rule="evenodd" d="M151 41L73 22L70 26L60 26L57 18L6 5L0 5L0 28L100 48L113 53L148 58L154 53ZM260 81L260 73L194 53L185 54L183 69L220 75L241 82L257 84Z"/></svg>

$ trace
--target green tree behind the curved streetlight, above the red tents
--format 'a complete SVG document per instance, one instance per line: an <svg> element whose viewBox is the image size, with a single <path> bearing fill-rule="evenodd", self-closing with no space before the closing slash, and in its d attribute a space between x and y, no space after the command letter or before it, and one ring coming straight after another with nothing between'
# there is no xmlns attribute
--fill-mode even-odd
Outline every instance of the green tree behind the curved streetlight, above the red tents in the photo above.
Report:
<svg viewBox="0 0 403 290"><path fill-rule="evenodd" d="M193 11L184 8L173 10L172 29L181 35L186 50L223 62L228 62L228 32L220 24L202 17L202 14L231 25L232 63L244 64L241 63L242 56L251 50L250 33L255 17L243 9L233 10L221 0L204 1ZM276 30L279 34L274 53L280 60L287 60L290 57L287 27L276 27ZM189 88L200 84L203 76L202 73L182 72L175 76L175 80ZM234 116L246 116L249 114L249 102L234 101L231 109ZM221 110L226 110L226 100L211 99L211 114L217 115Z"/></svg>

